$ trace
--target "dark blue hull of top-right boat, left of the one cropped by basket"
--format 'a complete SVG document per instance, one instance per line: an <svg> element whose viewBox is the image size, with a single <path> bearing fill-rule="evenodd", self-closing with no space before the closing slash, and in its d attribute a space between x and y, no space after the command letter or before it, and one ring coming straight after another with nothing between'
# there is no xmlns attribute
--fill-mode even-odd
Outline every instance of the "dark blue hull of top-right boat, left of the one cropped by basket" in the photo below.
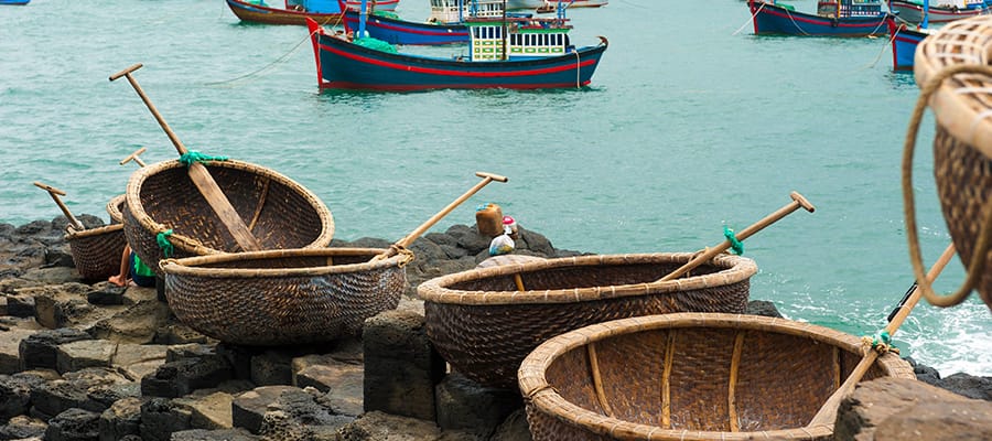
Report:
<svg viewBox="0 0 992 441"><path fill-rule="evenodd" d="M885 28L885 14L834 20L756 0L748 0L747 6L754 17L755 34L869 36L888 32Z"/></svg>

